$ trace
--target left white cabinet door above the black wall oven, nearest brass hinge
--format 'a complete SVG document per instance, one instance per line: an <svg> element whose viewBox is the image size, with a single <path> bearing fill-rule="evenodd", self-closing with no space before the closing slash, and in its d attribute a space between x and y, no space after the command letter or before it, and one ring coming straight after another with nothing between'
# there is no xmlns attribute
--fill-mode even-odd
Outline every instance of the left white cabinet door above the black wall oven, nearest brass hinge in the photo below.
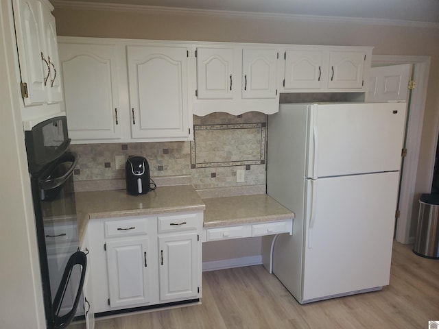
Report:
<svg viewBox="0 0 439 329"><path fill-rule="evenodd" d="M37 1L14 0L14 22L19 53L21 82L27 85L25 105L45 103L48 62L40 40L40 16ZM43 59L44 58L44 59ZM48 78L47 78L48 79Z"/></svg>

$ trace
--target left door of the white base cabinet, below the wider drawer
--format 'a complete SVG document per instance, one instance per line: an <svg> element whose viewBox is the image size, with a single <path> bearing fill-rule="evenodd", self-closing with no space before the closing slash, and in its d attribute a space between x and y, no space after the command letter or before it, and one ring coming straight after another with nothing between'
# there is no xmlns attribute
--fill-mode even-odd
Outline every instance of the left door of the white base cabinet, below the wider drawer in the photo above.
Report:
<svg viewBox="0 0 439 329"><path fill-rule="evenodd" d="M110 306L131 306L150 302L150 254L148 239L106 243Z"/></svg>

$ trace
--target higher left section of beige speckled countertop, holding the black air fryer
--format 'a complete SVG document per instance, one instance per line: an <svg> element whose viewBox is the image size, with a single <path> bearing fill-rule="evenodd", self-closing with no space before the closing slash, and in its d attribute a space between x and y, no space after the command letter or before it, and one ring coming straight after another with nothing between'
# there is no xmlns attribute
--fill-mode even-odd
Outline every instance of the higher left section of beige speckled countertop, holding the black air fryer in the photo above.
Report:
<svg viewBox="0 0 439 329"><path fill-rule="evenodd" d="M158 186L144 195L126 190L75 193L78 234L82 241L88 220L153 215L165 212L204 210L205 205L192 185Z"/></svg>

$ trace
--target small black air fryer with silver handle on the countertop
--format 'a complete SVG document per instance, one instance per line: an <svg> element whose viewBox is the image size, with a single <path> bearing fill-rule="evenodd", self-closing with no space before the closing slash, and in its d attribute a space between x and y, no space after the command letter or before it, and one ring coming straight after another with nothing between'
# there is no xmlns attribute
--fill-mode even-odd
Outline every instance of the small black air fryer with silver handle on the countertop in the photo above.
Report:
<svg viewBox="0 0 439 329"><path fill-rule="evenodd" d="M130 156L125 164L126 191L132 195L151 190L150 165L143 156Z"/></svg>

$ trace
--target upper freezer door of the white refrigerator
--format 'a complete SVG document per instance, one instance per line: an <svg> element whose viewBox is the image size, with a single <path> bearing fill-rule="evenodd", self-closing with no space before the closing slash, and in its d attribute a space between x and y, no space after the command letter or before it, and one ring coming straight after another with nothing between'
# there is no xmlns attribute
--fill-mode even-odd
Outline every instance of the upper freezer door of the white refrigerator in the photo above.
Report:
<svg viewBox="0 0 439 329"><path fill-rule="evenodd" d="M405 103L311 107L308 178L400 169Z"/></svg>

